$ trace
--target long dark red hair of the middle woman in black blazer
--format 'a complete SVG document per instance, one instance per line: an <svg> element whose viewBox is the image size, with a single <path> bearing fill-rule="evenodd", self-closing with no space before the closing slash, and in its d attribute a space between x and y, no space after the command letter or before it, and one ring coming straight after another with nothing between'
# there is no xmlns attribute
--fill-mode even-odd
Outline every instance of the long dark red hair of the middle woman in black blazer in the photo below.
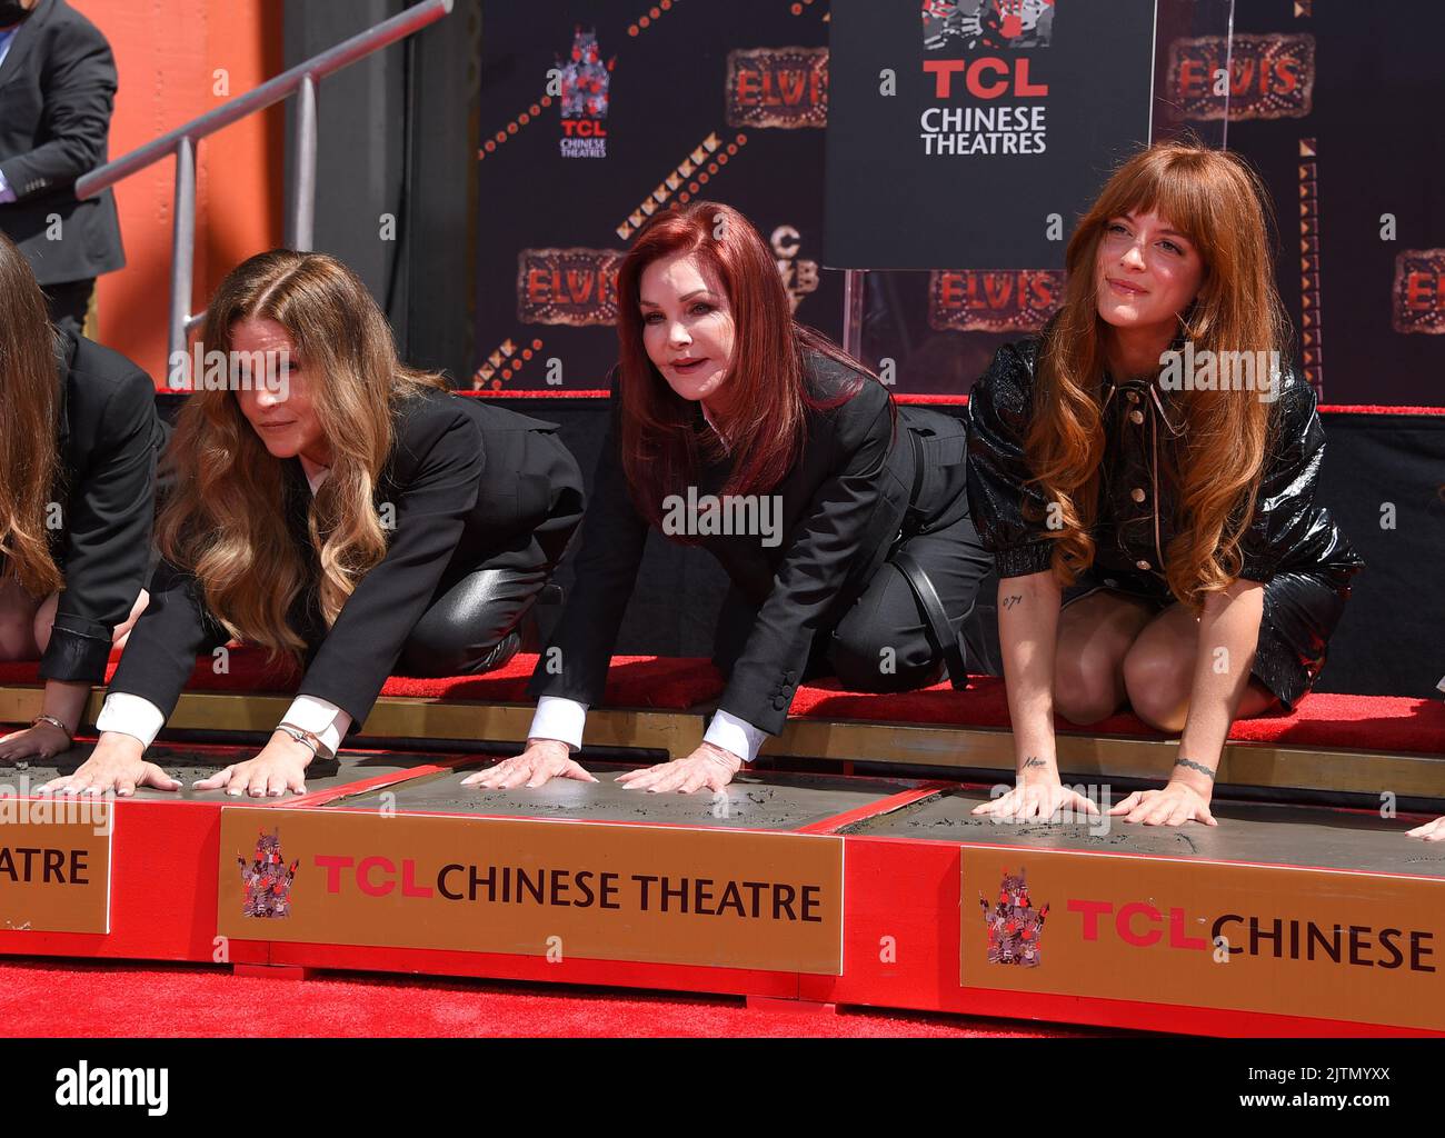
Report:
<svg viewBox="0 0 1445 1138"><path fill-rule="evenodd" d="M633 503L655 526L662 524L663 498L685 494L696 484L702 459L721 456L711 433L699 443L692 403L668 386L643 345L643 270L679 254L711 270L733 312L733 358L715 406L709 401L733 456L724 494L770 491L802 453L808 412L847 403L864 377L877 381L864 364L793 319L777 261L740 212L692 202L655 215L637 233L617 277L623 469ZM851 368L858 381L829 394L809 391L808 352Z"/></svg>

